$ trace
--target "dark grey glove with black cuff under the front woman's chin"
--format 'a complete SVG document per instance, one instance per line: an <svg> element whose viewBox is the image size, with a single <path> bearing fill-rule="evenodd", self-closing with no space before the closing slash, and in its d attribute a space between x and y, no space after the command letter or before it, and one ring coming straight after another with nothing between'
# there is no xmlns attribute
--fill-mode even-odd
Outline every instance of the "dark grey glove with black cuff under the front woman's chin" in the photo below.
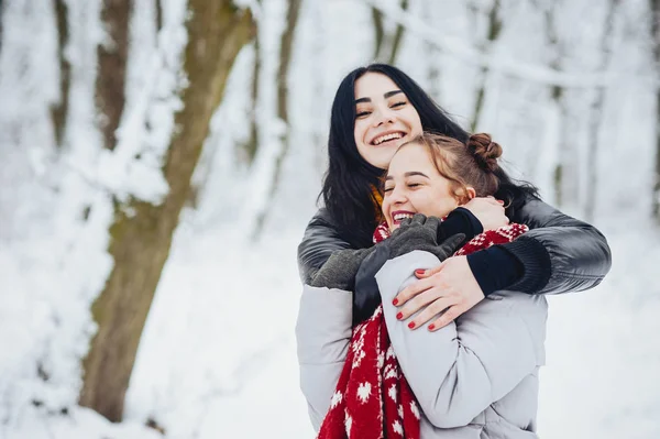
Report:
<svg viewBox="0 0 660 439"><path fill-rule="evenodd" d="M389 239L373 248L374 250L364 259L355 275L353 326L370 318L381 305L381 293L375 275L388 260L413 250L425 250L442 262L461 246L465 239L463 233L457 233L438 245L439 224L437 218L427 219L424 215L416 215L411 220L404 221Z"/></svg>

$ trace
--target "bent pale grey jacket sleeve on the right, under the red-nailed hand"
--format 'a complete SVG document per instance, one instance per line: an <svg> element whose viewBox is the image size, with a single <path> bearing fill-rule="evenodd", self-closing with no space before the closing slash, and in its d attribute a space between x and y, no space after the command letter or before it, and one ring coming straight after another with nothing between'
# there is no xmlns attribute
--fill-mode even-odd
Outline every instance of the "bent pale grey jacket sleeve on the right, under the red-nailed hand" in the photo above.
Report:
<svg viewBox="0 0 660 439"><path fill-rule="evenodd" d="M431 424L470 424L544 362L543 296L497 293L447 327L410 330L396 319L392 299L416 279L415 270L438 259L414 251L376 274L392 345L413 393Z"/></svg>

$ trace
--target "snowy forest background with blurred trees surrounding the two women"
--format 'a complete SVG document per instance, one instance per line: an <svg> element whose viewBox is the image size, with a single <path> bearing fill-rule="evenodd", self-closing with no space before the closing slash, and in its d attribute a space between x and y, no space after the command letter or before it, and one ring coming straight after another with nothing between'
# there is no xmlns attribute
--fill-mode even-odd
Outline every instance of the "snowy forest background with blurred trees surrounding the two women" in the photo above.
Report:
<svg viewBox="0 0 660 439"><path fill-rule="evenodd" d="M660 437L659 0L0 0L0 439L312 437L296 246L373 61L608 238L541 437Z"/></svg>

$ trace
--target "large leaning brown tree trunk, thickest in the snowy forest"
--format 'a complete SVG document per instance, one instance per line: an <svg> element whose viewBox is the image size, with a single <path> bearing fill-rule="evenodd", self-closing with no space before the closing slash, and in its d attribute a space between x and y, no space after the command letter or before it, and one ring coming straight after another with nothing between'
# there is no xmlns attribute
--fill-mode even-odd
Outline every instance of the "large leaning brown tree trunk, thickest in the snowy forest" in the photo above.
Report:
<svg viewBox="0 0 660 439"><path fill-rule="evenodd" d="M254 34L251 14L239 11L231 0L190 0L188 8L184 64L188 86L180 94L183 109L175 117L179 129L163 167L169 193L158 206L132 201L129 209L116 209L109 248L114 267L92 306L99 330L84 362L80 404L112 421L122 418L140 337L211 116L239 51Z"/></svg>

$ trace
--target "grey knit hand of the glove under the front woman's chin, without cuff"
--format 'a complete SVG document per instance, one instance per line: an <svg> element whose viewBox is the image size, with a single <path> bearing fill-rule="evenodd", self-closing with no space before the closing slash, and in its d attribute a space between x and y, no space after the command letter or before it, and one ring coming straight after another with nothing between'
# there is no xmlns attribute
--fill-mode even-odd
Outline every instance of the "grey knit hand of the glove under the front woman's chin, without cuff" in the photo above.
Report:
<svg viewBox="0 0 660 439"><path fill-rule="evenodd" d="M387 240L389 257L394 259L414 250L424 250L444 261L451 256L465 239L463 233L457 233L438 245L438 228L440 219L416 213L411 219L402 222Z"/></svg>

